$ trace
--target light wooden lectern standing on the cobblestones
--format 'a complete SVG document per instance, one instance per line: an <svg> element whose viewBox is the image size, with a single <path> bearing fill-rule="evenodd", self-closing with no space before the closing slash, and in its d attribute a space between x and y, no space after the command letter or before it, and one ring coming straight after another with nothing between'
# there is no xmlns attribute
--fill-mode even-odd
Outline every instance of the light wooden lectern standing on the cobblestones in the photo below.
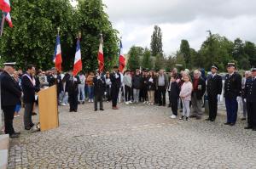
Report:
<svg viewBox="0 0 256 169"><path fill-rule="evenodd" d="M38 93L40 130L46 131L59 127L56 85L42 89Z"/></svg>

